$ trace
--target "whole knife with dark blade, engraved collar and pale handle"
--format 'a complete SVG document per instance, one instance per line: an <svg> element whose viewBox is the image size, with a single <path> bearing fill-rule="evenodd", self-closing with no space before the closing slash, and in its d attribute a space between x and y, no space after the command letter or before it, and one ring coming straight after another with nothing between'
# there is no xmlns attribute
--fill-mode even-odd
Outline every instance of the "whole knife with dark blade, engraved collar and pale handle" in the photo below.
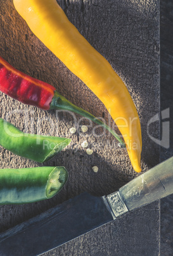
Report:
<svg viewBox="0 0 173 256"><path fill-rule="evenodd" d="M0 234L0 255L39 255L173 193L173 157L108 196L80 194Z"/></svg>

